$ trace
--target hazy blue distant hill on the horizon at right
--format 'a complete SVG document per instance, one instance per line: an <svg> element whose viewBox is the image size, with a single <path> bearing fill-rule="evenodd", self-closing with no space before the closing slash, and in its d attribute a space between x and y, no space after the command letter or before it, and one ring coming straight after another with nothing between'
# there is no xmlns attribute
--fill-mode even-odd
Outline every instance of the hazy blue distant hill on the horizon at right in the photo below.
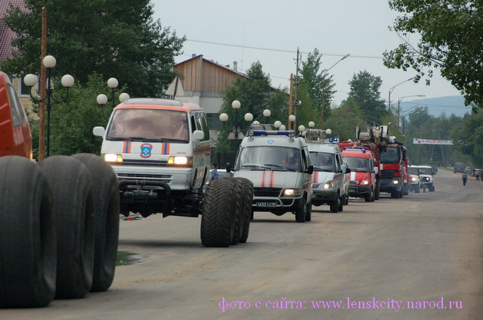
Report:
<svg viewBox="0 0 483 320"><path fill-rule="evenodd" d="M395 103L397 104L397 101L395 101ZM393 103L391 104L393 105ZM411 112L412 108L427 106L429 114L435 117L439 117L443 113L445 113L446 116L455 114L457 117L462 117L466 113L471 113L471 107L464 106L464 98L462 96L418 99L406 102L401 101L400 106L401 112Z"/></svg>

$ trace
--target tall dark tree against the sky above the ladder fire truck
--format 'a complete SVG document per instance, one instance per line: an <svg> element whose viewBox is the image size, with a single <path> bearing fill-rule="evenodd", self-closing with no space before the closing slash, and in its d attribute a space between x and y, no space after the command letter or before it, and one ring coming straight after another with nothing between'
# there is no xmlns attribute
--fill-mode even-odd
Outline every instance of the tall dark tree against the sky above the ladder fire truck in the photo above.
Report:
<svg viewBox="0 0 483 320"><path fill-rule="evenodd" d="M387 110L384 106L384 100L380 99L381 77L373 76L364 70L354 74L349 81L349 85L351 86L349 95L353 97L362 110L362 117L368 123L382 124Z"/></svg>

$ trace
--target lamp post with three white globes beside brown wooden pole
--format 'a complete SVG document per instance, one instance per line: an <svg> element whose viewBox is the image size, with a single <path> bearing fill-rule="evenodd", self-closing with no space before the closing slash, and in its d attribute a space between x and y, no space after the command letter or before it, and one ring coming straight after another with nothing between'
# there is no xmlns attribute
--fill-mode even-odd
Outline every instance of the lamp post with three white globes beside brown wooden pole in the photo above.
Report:
<svg viewBox="0 0 483 320"><path fill-rule="evenodd" d="M43 66L46 67L46 70L47 70L46 96L45 97L39 97L39 98L34 98L32 96L32 87L35 86L35 84L37 83L37 76L35 76L34 74L27 74L23 78L23 82L26 84L26 86L30 87L30 98L34 102L40 103L40 102L45 101L47 99L47 148L46 148L46 154L47 154L47 157L49 157L49 155L50 155L50 103L51 103L51 101L54 101L54 102L57 102L57 103L66 101L66 99L68 98L68 95L69 95L69 88L74 86L74 77L72 77L70 74L65 74L61 78L62 86L67 88L67 93L66 93L66 97L63 97L62 99L57 100L52 96L52 86L51 86L52 68L55 67L55 64L57 63L57 61L55 60L54 57L48 55L48 56L43 58L42 63L43 63ZM43 139L43 137L40 137L40 139Z"/></svg>

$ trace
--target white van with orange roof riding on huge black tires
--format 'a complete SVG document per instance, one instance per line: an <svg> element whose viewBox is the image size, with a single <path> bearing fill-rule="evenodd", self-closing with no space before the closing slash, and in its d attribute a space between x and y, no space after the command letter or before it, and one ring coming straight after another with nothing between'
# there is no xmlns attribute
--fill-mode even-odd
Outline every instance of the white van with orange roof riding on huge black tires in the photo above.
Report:
<svg viewBox="0 0 483 320"><path fill-rule="evenodd" d="M201 214L205 246L246 242L248 227L244 232L243 221L250 219L253 194L249 181L219 179L206 193L199 192L210 170L210 134L200 106L128 99L114 108L106 129L95 127L93 133L103 137L101 157L119 179L121 214ZM244 201L249 204L244 206Z"/></svg>

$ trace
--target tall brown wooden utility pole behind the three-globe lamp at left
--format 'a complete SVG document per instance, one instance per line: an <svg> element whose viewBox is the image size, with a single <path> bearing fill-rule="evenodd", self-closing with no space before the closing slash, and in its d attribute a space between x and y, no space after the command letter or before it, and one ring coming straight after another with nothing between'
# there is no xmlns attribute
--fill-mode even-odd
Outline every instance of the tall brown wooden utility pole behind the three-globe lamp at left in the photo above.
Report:
<svg viewBox="0 0 483 320"><path fill-rule="evenodd" d="M42 7L42 37L41 37L41 57L40 57L40 97L46 97L47 94L47 70L46 67L43 66L43 58L47 55L47 8ZM42 101L40 103L40 110L39 110L39 161L43 160L44 154L44 128L46 127L46 101Z"/></svg>

